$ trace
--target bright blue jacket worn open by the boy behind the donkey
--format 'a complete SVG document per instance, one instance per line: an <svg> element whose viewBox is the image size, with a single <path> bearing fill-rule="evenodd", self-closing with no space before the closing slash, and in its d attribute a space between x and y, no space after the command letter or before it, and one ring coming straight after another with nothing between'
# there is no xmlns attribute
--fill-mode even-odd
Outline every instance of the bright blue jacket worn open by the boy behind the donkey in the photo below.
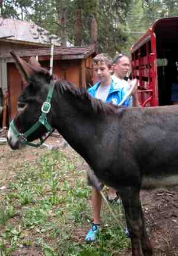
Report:
<svg viewBox="0 0 178 256"><path fill-rule="evenodd" d="M101 82L97 82L94 86L88 89L88 93L90 93L90 95L93 98L95 98L97 89L100 86L100 84ZM118 83L117 80L113 79L112 77L112 83L110 86L109 94L107 95L106 103L112 102L112 104L118 105L120 101L122 101L122 99L124 98L128 90L129 90L129 85L121 86L120 83ZM132 96L124 102L123 106L132 107Z"/></svg>

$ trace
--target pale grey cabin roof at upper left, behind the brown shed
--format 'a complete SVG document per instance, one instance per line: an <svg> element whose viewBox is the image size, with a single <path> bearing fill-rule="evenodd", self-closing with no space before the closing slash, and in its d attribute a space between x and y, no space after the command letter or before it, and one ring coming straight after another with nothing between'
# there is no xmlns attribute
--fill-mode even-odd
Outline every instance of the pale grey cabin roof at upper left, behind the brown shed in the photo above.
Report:
<svg viewBox="0 0 178 256"><path fill-rule="evenodd" d="M50 32L37 26L37 24L12 18L0 18L0 40L46 46L50 44L50 40L53 40L55 45L61 45L61 39L58 36L51 35Z"/></svg>

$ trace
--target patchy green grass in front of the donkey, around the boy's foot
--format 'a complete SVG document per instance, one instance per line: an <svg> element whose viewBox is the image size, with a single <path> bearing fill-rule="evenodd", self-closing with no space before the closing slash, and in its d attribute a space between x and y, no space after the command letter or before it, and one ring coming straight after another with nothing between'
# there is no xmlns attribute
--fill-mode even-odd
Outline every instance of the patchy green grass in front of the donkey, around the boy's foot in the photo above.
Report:
<svg viewBox="0 0 178 256"><path fill-rule="evenodd" d="M50 151L36 163L14 166L16 176L1 193L0 256L23 256L30 248L45 256L112 256L130 246L106 206L98 241L84 242L92 218L91 191L78 163L78 156ZM122 221L123 208L113 210Z"/></svg>

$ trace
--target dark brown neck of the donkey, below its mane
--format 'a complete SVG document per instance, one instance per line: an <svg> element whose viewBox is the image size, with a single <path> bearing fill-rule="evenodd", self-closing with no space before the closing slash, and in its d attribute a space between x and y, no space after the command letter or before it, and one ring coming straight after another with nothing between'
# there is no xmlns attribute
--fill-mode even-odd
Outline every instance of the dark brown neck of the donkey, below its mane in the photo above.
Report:
<svg viewBox="0 0 178 256"><path fill-rule="evenodd" d="M86 161L93 157L103 129L104 118L94 113L90 102L64 93L53 102L55 129ZM94 153L95 152L95 153Z"/></svg>

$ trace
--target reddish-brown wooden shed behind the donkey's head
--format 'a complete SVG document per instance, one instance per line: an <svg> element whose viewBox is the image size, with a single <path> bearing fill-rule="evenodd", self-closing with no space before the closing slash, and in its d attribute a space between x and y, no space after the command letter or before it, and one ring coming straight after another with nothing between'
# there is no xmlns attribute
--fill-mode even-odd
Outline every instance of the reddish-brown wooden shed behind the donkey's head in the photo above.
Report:
<svg viewBox="0 0 178 256"><path fill-rule="evenodd" d="M50 48L39 49L22 49L15 51L18 56L28 61L31 56L37 56L42 67L49 70L50 66ZM92 77L92 60L96 56L96 46L78 46L78 47L55 47L53 52L53 74L75 83L77 86L86 86ZM1 57L0 57L1 58ZM4 55L7 63L8 77L8 121L9 122L17 114L17 100L24 88L23 81L11 55ZM8 126L7 124L7 126Z"/></svg>

